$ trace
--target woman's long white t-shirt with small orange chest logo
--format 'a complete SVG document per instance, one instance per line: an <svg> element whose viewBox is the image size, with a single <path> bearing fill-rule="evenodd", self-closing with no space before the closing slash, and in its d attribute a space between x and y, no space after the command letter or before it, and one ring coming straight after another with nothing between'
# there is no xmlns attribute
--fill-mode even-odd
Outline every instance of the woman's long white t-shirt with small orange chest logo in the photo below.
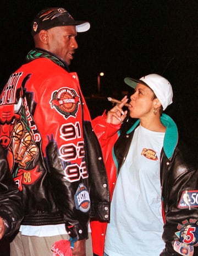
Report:
<svg viewBox="0 0 198 256"><path fill-rule="evenodd" d="M109 256L158 256L164 248L160 153L164 133L136 128L120 169L107 225Z"/></svg>

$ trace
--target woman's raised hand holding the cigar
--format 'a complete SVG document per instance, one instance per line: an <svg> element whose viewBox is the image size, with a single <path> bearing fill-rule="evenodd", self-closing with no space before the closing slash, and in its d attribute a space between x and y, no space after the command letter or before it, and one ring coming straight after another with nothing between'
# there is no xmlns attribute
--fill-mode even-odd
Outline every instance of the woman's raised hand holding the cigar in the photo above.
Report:
<svg viewBox="0 0 198 256"><path fill-rule="evenodd" d="M108 111L106 119L106 122L108 122L108 124L118 125L122 123L126 118L127 110L123 111L122 108L124 104L128 102L127 96L124 96L124 98L121 101L122 103L114 106L111 110Z"/></svg>

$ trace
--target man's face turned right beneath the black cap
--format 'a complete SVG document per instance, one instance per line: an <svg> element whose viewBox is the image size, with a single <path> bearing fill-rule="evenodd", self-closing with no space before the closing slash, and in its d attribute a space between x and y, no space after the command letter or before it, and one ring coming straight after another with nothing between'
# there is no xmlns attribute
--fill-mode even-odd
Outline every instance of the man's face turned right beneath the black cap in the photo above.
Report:
<svg viewBox="0 0 198 256"><path fill-rule="evenodd" d="M56 26L48 29L48 49L52 54L61 57L68 65L73 60L75 49L78 48L76 42L75 26Z"/></svg>

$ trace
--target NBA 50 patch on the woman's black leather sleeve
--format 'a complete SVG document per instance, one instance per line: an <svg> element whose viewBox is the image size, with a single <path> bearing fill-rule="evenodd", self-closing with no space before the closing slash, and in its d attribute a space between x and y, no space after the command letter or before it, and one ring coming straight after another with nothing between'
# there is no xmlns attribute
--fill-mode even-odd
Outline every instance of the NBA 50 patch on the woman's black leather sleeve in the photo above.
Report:
<svg viewBox="0 0 198 256"><path fill-rule="evenodd" d="M178 208L191 208L198 207L198 190L185 190L180 198Z"/></svg>

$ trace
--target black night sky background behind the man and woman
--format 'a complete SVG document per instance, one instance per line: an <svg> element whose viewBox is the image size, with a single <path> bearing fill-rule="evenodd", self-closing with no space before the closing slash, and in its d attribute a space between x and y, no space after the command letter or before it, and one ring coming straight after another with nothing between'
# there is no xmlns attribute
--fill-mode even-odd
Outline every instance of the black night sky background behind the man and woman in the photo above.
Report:
<svg viewBox="0 0 198 256"><path fill-rule="evenodd" d="M1 89L10 73L33 47L30 24L45 7L65 7L75 19L89 20L91 29L79 33L71 71L78 72L81 88L94 118L129 91L123 79L158 73L173 86L173 104L165 113L178 125L180 137L197 152L197 0L68 0L1 1ZM97 75L101 77L100 98Z"/></svg>

